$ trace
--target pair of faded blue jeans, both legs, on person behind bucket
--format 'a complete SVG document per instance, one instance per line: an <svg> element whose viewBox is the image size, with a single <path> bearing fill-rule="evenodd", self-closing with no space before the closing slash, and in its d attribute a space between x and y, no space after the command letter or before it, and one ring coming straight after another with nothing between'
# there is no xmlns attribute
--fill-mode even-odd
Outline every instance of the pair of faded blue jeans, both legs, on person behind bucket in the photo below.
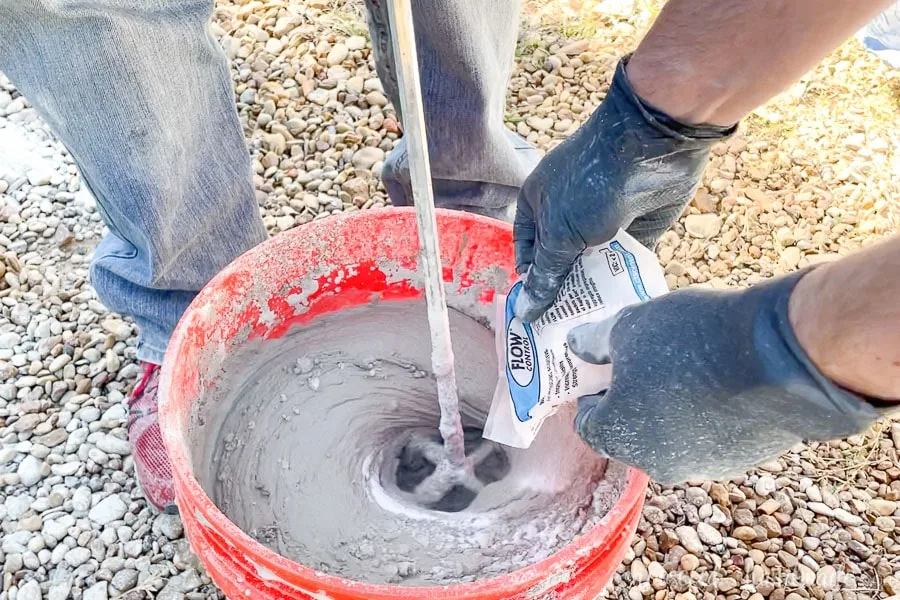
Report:
<svg viewBox="0 0 900 600"><path fill-rule="evenodd" d="M381 0L379 72L396 100ZM437 202L508 215L537 159L503 126L518 0L414 3ZM197 291L266 239L212 0L0 0L0 70L67 146L109 233L91 282L162 362ZM490 18L485 18L485 11ZM402 147L385 165L409 203Z"/></svg>

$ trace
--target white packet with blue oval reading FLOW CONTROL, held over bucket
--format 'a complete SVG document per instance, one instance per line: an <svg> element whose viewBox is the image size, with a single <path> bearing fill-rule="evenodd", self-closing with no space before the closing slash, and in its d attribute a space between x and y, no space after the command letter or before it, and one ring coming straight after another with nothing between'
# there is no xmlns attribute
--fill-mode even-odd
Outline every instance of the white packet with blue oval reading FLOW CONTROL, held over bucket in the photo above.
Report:
<svg viewBox="0 0 900 600"><path fill-rule="evenodd" d="M521 287L516 283L497 299L500 380L484 437L528 448L544 420L561 405L609 387L612 367L586 363L570 352L569 331L669 288L656 255L622 230L578 257L556 301L532 323L523 323L513 313Z"/></svg>

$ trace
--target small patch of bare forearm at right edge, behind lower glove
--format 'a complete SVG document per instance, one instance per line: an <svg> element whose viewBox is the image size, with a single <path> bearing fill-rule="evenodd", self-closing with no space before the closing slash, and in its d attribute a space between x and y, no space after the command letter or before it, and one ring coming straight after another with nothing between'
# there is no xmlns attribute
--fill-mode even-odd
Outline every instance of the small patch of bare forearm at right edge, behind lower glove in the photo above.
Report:
<svg viewBox="0 0 900 600"><path fill-rule="evenodd" d="M790 318L813 363L836 383L900 400L900 235L806 275Z"/></svg>

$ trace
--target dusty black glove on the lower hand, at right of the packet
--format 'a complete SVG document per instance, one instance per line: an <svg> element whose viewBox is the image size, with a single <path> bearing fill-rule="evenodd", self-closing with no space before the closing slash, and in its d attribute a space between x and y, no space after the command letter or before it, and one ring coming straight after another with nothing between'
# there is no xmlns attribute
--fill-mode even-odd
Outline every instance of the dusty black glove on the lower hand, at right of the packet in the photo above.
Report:
<svg viewBox="0 0 900 600"><path fill-rule="evenodd" d="M575 426L598 453L660 483L724 479L804 440L858 433L877 403L809 360L788 320L805 272L749 290L682 290L576 327L579 357L612 362L605 394L579 401Z"/></svg>

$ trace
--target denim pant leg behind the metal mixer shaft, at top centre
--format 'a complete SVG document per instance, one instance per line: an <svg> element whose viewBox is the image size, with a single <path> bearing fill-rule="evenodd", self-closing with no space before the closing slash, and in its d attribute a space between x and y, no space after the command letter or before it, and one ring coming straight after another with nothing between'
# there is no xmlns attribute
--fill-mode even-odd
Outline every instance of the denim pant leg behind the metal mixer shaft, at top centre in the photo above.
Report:
<svg viewBox="0 0 900 600"><path fill-rule="evenodd" d="M399 112L389 1L366 6L378 75ZM503 124L520 0L416 0L412 7L435 203L511 219L540 158ZM412 203L403 140L382 179L394 204Z"/></svg>

